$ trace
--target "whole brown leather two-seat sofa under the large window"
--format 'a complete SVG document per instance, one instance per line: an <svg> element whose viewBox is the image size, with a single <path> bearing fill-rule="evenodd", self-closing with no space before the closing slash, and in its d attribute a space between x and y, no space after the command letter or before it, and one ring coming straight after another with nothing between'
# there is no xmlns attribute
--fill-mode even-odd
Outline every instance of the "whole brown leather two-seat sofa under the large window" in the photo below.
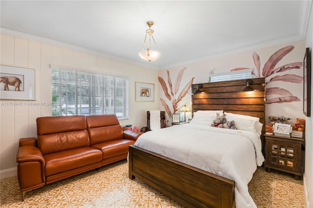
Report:
<svg viewBox="0 0 313 208"><path fill-rule="evenodd" d="M22 138L18 179L25 192L127 158L142 134L122 129L115 115L36 119L38 138Z"/></svg>

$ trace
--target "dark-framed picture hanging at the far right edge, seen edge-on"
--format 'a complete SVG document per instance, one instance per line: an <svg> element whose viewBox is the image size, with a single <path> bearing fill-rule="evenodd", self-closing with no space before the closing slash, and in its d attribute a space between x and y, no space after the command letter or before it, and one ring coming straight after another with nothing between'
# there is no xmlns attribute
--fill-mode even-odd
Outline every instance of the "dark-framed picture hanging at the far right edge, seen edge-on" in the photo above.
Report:
<svg viewBox="0 0 313 208"><path fill-rule="evenodd" d="M311 116L311 53L306 48L303 59L303 113Z"/></svg>

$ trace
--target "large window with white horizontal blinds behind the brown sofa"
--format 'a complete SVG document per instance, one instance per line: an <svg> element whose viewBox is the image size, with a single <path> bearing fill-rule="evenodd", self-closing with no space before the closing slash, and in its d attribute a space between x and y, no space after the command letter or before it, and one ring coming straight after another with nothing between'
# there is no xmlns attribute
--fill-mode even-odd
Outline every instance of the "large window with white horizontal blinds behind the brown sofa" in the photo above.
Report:
<svg viewBox="0 0 313 208"><path fill-rule="evenodd" d="M52 116L115 114L129 117L128 79L52 68Z"/></svg>

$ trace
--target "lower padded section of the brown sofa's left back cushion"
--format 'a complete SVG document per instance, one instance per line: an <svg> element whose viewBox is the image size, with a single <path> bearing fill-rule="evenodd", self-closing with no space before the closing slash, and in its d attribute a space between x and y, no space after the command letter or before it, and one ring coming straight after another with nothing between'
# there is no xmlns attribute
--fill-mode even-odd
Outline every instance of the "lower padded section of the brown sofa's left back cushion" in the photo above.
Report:
<svg viewBox="0 0 313 208"><path fill-rule="evenodd" d="M87 129L38 135L38 147L43 155L83 146L90 146Z"/></svg>

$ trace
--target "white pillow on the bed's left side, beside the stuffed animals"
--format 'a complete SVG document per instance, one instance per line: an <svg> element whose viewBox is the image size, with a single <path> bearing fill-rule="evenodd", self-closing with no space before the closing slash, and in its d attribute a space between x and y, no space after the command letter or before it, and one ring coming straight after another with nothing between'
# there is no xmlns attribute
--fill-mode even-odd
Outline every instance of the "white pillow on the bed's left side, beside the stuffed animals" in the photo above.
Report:
<svg viewBox="0 0 313 208"><path fill-rule="evenodd" d="M194 117L190 121L190 124L211 126L216 118L216 113L222 115L223 110L198 110L194 112Z"/></svg>

